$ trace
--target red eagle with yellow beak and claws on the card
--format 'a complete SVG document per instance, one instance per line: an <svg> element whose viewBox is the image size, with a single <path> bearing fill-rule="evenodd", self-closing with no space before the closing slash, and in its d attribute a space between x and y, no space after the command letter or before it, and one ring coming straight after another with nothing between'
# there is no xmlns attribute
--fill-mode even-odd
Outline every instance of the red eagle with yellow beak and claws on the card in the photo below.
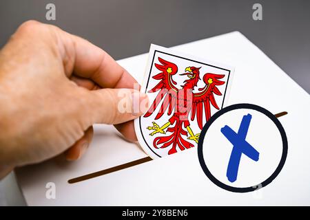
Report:
<svg viewBox="0 0 310 220"><path fill-rule="evenodd" d="M149 93L158 94L144 117L147 118L149 115L152 115L158 107L160 109L155 120L161 118L166 111L167 115L172 115L163 126L152 122L153 125L147 127L147 129L152 130L152 133L149 135L162 134L154 138L154 148L170 147L168 154L172 154L177 152L177 147L181 151L193 147L194 144L189 141L198 143L200 133L193 133L189 118L191 120L196 119L200 130L203 129L203 114L206 120L209 120L211 117L210 104L216 109L219 109L214 99L214 94L222 96L217 86L225 84L224 81L219 80L225 75L204 74L203 83L205 83L205 86L198 89L197 93L194 93L194 87L201 80L200 67L187 67L185 72L180 75L186 75L188 79L180 86L181 89L177 89L177 83L172 77L177 74L178 67L174 63L165 61L160 57L158 57L158 61L161 64L155 63L155 67L160 73L153 76L153 78L159 82L154 88L148 91Z"/></svg>

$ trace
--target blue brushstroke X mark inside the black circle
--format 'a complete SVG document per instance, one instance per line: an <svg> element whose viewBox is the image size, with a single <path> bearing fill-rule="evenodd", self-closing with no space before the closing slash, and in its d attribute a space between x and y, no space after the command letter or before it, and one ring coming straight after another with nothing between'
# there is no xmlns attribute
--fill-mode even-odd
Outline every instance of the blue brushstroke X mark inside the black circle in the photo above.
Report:
<svg viewBox="0 0 310 220"><path fill-rule="evenodd" d="M220 129L220 131L229 140L229 142L233 144L226 173L226 176L231 183L237 179L242 153L256 162L259 159L260 153L258 153L258 151L256 151L256 149L245 140L245 137L247 137L247 131L249 129L251 118L252 115L250 114L243 116L238 133L233 131L227 125Z"/></svg>

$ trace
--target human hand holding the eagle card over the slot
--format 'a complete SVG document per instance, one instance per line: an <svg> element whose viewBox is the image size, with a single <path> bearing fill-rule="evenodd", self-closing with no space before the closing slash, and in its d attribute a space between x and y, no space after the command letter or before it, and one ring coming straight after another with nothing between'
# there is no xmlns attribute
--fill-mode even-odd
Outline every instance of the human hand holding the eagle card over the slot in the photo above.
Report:
<svg viewBox="0 0 310 220"><path fill-rule="evenodd" d="M148 99L135 83L92 43L53 25L23 23L0 51L0 177L64 151L78 159L94 123L116 124L136 141L132 120Z"/></svg>

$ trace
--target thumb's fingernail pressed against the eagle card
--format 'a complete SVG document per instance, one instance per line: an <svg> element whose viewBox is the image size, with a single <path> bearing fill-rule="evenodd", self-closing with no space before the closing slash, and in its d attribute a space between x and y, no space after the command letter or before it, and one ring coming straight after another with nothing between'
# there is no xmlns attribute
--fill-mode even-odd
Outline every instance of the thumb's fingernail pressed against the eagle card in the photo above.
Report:
<svg viewBox="0 0 310 220"><path fill-rule="evenodd" d="M147 111L149 98L147 94L134 91L132 93L132 115L143 115Z"/></svg>

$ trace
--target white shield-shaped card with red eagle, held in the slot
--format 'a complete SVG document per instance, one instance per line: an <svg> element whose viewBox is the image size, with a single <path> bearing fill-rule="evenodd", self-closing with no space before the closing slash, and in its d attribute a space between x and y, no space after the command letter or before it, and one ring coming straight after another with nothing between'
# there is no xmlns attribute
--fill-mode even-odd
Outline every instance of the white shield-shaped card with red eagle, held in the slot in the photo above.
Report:
<svg viewBox="0 0 310 220"><path fill-rule="evenodd" d="M196 147L203 125L225 107L234 68L151 45L141 91L149 111L134 122L153 159Z"/></svg>

